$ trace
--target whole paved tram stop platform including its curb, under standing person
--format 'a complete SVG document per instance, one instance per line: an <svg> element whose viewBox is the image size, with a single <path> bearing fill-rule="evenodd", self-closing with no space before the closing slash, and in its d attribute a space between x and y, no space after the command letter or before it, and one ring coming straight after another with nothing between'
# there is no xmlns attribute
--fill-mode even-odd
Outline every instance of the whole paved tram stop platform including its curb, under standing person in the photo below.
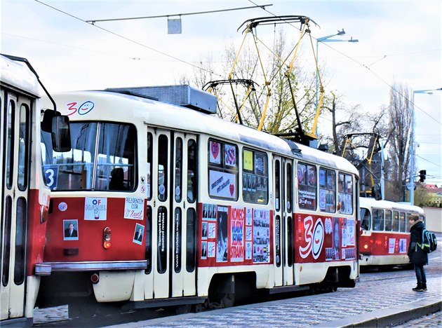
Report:
<svg viewBox="0 0 442 328"><path fill-rule="evenodd" d="M382 277L378 278L361 275L361 282L355 288L337 289L337 292L113 327L391 327L426 315L427 327L437 327L442 324L441 262L440 257L434 259L427 270L427 292L412 291L413 270L396 271L380 273ZM416 322L420 325L420 321Z"/></svg>

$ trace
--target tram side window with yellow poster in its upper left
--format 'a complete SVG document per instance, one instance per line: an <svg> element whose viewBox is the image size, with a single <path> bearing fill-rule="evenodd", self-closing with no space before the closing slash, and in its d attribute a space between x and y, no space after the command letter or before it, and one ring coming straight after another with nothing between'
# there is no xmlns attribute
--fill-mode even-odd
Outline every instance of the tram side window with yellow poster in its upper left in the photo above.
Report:
<svg viewBox="0 0 442 328"><path fill-rule="evenodd" d="M246 203L267 204L268 182L267 155L243 149L243 200Z"/></svg>

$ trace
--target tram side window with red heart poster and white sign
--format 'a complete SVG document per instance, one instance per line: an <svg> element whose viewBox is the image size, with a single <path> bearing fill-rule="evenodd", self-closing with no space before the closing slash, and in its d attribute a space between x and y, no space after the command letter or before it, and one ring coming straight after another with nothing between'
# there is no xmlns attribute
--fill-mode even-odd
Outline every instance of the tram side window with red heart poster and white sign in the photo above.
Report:
<svg viewBox="0 0 442 328"><path fill-rule="evenodd" d="M215 139L208 142L210 198L238 199L238 147Z"/></svg>

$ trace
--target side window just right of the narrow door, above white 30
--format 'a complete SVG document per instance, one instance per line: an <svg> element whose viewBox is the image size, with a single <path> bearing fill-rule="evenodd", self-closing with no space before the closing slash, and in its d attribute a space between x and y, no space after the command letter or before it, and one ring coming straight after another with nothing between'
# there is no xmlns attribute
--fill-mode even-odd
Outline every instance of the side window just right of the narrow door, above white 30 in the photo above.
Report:
<svg viewBox="0 0 442 328"><path fill-rule="evenodd" d="M304 210L316 210L316 167L297 163L297 204Z"/></svg>

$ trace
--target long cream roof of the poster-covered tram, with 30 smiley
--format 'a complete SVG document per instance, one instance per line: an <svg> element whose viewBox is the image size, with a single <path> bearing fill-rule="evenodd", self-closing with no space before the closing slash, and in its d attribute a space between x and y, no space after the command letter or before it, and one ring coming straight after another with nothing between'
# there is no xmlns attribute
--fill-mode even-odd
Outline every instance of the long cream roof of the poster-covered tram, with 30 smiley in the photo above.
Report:
<svg viewBox="0 0 442 328"><path fill-rule="evenodd" d="M297 148L293 149L293 146L290 146L286 140L280 137L248 128L245 125L225 121L213 115L203 114L194 109L157 102L145 97L104 90L54 93L53 98L58 103L58 110L62 114L69 114L67 104L72 102L76 102L79 106L83 102L93 102L94 109L99 109L99 111L91 110L88 114L82 116L70 116L72 120L119 121L131 122L135 125L144 122L158 128L192 131L250 144L281 155L303 158L314 163L327 165L330 168L337 168L359 175L354 165L351 165L348 160L342 157L290 142L290 144L295 144L295 148ZM49 106L48 100L45 100L44 104ZM128 111L123 109L130 109L131 116L128 116Z"/></svg>

